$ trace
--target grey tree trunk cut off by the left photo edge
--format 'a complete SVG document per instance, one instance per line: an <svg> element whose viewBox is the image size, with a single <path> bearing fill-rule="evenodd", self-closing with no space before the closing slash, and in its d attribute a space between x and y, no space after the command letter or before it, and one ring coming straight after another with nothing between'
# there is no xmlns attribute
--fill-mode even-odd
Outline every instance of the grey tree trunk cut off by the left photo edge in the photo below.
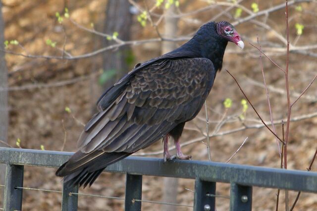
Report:
<svg viewBox="0 0 317 211"><path fill-rule="evenodd" d="M0 0L0 49L4 49L4 22L2 19L2 3ZM4 52L0 51L0 89L7 88L8 72L5 63ZM7 143L8 138L8 93L0 91L0 140ZM0 143L0 147L6 147ZM5 165L0 164L0 172L5 172ZM5 173L0 174L0 184L4 184ZM0 188L0 198L3 199L3 188Z"/></svg>

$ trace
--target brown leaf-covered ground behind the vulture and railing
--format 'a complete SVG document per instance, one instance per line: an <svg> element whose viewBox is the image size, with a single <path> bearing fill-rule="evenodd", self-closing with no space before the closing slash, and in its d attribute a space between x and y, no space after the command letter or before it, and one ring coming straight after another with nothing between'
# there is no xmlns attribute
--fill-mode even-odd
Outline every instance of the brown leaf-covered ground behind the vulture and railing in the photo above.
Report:
<svg viewBox="0 0 317 211"><path fill-rule="evenodd" d="M18 40L23 48L10 45L9 49L18 53L29 53L36 55L60 55L58 50L63 49L64 31L66 33L65 50L74 55L80 55L96 50L100 42L99 38L91 33L78 29L69 20L65 19L63 24L59 24L55 17L55 12L63 13L66 2L70 17L86 27L94 23L96 30L101 30L104 20L106 0L2 0L3 18L5 21L5 38L7 40ZM226 1L227 2L227 1ZM281 0L268 0L259 3L260 10L268 6L282 3ZM152 2L153 3L153 2ZM250 8L252 1L242 2ZM141 4L140 4L141 5ZM205 1L180 1L183 12L193 11L206 6ZM301 22L305 25L303 35L298 39L298 46L308 46L317 43L317 19L315 3L302 3L304 11L315 12L298 13L294 6L290 7L290 40L297 39L295 23ZM224 8L224 7L220 7ZM214 14L219 13L220 8L214 8L190 16L188 22L186 18L179 21L179 34L187 35L197 30L197 28L211 19ZM234 14L234 10L231 12ZM243 14L247 15L247 14ZM142 28L137 22L137 17L133 17L132 39L149 39L157 37L155 30L150 26ZM222 19L229 20L227 16ZM220 20L218 18L217 20ZM273 12L268 17L268 23L274 30L285 36L284 10ZM263 21L259 17L258 21ZM162 25L162 24L161 24ZM259 53L248 43L256 44L257 35L263 46L278 43L272 31L246 22L238 25L238 32L245 39L246 48L243 52L235 45L228 44L227 52L224 56L223 69L217 74L215 84L208 97L210 133L212 134L219 121L225 114L226 121L221 126L219 132L232 130L243 125L260 124L261 121L252 110L251 106L243 113L244 120L239 120L242 113L241 100L244 99L233 79L225 69L234 74L241 87L250 98L251 102L261 113L264 120L269 120L269 110L266 101L265 90L254 85L250 80L263 83ZM159 28L162 30L162 26ZM119 35L120 37L120 35ZM51 39L56 42L57 48L46 45L46 40ZM96 45L97 43L97 45ZM181 43L180 43L181 44ZM135 63L145 61L160 54L160 43L148 43L145 45L132 46ZM285 67L285 53L273 53L271 58L282 67ZM79 60L57 60L43 58L26 58L13 54L6 54L7 67L9 72L9 137L8 143L12 147L17 147L17 139L20 139L22 148L60 151L66 133L66 143L64 151L76 151L76 141L83 129L80 122L87 122L95 105L96 96L101 94L101 90L92 93L92 87L98 80L99 69L102 68L102 55L93 58ZM301 54L290 54L290 90L291 93L301 93L302 90L316 75L317 59ZM285 90L284 74L268 59L263 58L266 83L273 86L270 91L270 103L272 106L274 119L285 118L287 99L285 94L280 94L278 89ZM129 70L126 70L129 71ZM95 74L91 76L91 74ZM85 76L85 77L83 77ZM83 78L81 78L83 77ZM67 85L59 85L60 81L78 79ZM116 81L112 79L112 83ZM48 87L32 87L33 85L46 84ZM52 86L51 86L52 85ZM20 87L18 90L13 88ZM99 88L101 89L101 88ZM298 117L316 112L317 108L317 83L313 83L305 96L293 107L292 116ZM230 98L232 107L225 109L223 101ZM296 98L292 97L292 100ZM65 111L65 107L71 109L71 113ZM187 123L182 136L182 142L187 142L198 137L202 137L201 131L206 131L205 110L203 109L198 117ZM76 119L75 119L75 118ZM63 123L62 123L63 122ZM288 168L306 170L317 148L317 117L307 118L301 121L291 122L290 137L288 145ZM193 131L194 130L194 131ZM276 125L277 134L282 135L282 126ZM248 164L256 166L280 167L280 157L278 154L276 140L274 136L265 128L245 129L239 132L230 133L224 136L211 138L211 158L216 162L225 162L240 147L242 142L248 140L240 151L230 160L230 163ZM206 139L203 140L206 142ZM143 152L156 152L162 150L161 142ZM140 152L140 153L143 153ZM197 142L183 147L184 154L191 154L193 159L208 160L206 145ZM154 157L154 156L152 156ZM156 156L162 158L162 155ZM317 169L315 162L312 170ZM40 188L48 190L61 190L60 178L54 175L55 169L25 167L24 186L30 188ZM124 197L125 175L114 173L103 173L91 188L80 189L80 193L95 195ZM161 201L163 178L154 176L144 176L143 196L145 200ZM1 188L1 187L0 187ZM177 188L177 200L179 204L193 205L194 194L186 189L194 190L194 181L180 179ZM229 184L217 183L217 194L229 196ZM277 190L267 188L257 188L253 190L253 210L271 211L275 210ZM289 193L289 202L292 205L296 197L296 192ZM2 200L1 200L2 201ZM48 193L43 191L25 190L23 192L23 211L58 211L60 210L61 194ZM1 207L1 206L0 206ZM143 203L142 210L157 211L160 205ZM79 211L123 211L122 200L105 199L99 197L79 196ZM178 211L190 211L192 208L178 207ZM229 210L229 200L226 198L216 199L216 210ZM279 210L285 210L285 192L281 191L279 198ZM316 211L316 194L302 193L295 210Z"/></svg>

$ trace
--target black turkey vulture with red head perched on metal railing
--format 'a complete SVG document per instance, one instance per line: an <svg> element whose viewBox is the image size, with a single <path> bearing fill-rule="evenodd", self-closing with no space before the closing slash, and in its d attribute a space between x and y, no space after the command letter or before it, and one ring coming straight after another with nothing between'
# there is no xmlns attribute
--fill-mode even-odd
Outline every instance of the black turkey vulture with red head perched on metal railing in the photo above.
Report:
<svg viewBox="0 0 317 211"><path fill-rule="evenodd" d="M202 108L228 41L244 43L228 22L209 22L178 49L137 64L98 100L99 112L86 124L78 140L79 151L56 171L66 186L92 185L110 164L163 138L164 160L171 136L176 157L185 122Z"/></svg>

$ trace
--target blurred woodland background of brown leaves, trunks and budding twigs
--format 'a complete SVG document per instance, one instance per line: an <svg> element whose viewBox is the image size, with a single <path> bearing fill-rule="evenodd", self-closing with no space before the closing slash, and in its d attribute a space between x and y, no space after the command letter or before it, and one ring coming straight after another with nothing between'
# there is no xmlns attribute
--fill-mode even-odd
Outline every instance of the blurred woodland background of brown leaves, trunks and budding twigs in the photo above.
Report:
<svg viewBox="0 0 317 211"><path fill-rule="evenodd" d="M286 22L283 0L2 0L0 19L0 146L75 152L96 101L136 63L171 51L209 21L226 20L245 42L229 43L222 71L207 100L211 160L280 167L277 140L245 101L233 78L270 123L270 98L276 133L282 137L287 115L285 74L253 47L285 69ZM289 89L296 100L317 74L317 2L289 1ZM259 39L259 44L257 42ZM250 45L252 44L252 45ZM5 55L4 55L5 54ZM5 56L5 57L4 57ZM4 59L5 58L5 59ZM317 83L292 107L287 168L306 170L317 149ZM185 125L184 154L209 160L206 111ZM245 142L244 142L245 141ZM241 147L241 145L243 146ZM280 143L279 143L280 145ZM237 152L238 148L239 151ZM162 143L137 153L162 158ZM312 170L317 169L314 163ZM0 175L4 175L3 168ZM24 186L61 190L55 169L25 167ZM3 180L2 180L3 181ZM103 173L80 193L124 197L125 175ZM0 184L3 184L0 183ZM168 187L168 188L166 188ZM229 196L229 184L217 194ZM1 187L0 187L1 189ZM189 190L188 190L189 189ZM143 177L145 200L193 205L194 181ZM276 209L277 190L254 188L253 210ZM292 206L297 192L289 192ZM2 198L0 198L2 207ZM58 211L61 194L23 191L23 211ZM121 211L122 200L80 196L79 211ZM189 211L143 203L145 211ZM229 210L229 199L216 199L217 211ZM278 210L285 210L285 191ZM317 197L302 193L295 210L316 211Z"/></svg>

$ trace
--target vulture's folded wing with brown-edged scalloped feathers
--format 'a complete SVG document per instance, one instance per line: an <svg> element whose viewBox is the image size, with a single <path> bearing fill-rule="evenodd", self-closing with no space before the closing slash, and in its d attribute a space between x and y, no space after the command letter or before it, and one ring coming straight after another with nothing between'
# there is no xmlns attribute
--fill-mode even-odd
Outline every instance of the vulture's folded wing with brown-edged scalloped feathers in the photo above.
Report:
<svg viewBox="0 0 317 211"><path fill-rule="evenodd" d="M83 132L80 150L133 153L157 141L197 114L213 75L212 63L206 58L163 60L140 69L118 98L104 108L107 111L96 115Z"/></svg>

